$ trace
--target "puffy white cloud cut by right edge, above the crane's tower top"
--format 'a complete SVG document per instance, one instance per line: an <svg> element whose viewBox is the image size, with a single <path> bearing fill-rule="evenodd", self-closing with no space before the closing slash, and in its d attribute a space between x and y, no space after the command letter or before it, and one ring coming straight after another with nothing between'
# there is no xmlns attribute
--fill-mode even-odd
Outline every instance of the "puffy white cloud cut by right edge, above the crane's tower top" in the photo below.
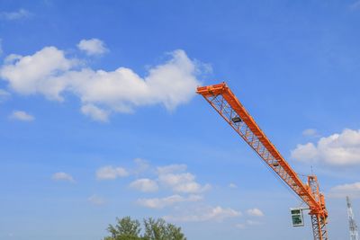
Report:
<svg viewBox="0 0 360 240"><path fill-rule="evenodd" d="M360 164L360 130L345 129L340 134L320 138L317 144L299 144L293 159L330 165Z"/></svg>

